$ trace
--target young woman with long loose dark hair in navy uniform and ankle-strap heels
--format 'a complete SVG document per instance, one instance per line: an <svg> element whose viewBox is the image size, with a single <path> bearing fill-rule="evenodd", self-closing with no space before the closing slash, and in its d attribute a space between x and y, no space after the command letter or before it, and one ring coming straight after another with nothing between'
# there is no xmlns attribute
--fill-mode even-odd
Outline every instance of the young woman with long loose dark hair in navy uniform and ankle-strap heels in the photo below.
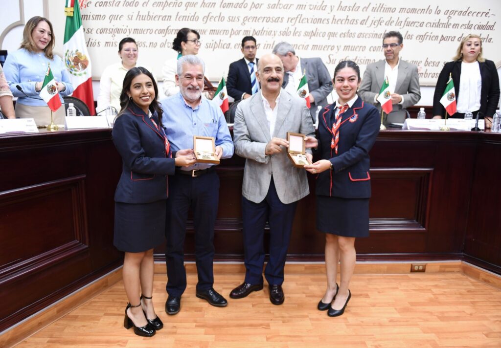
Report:
<svg viewBox="0 0 501 348"><path fill-rule="evenodd" d="M129 303L124 326L134 326L135 334L146 337L163 327L151 295L153 248L164 241L165 235L167 175L174 174L175 166L194 163L192 150L172 155L157 96L151 73L142 67L130 69L125 75L121 110L112 131L123 161L115 191L113 244L125 252L122 274Z"/></svg>

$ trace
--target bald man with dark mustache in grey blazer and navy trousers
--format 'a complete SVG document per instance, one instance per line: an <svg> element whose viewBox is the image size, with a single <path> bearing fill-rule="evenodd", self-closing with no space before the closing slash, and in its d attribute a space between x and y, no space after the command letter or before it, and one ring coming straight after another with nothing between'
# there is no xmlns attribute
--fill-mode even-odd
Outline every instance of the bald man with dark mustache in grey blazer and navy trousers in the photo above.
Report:
<svg viewBox="0 0 501 348"><path fill-rule="evenodd" d="M273 304L284 302L284 266L298 200L309 194L306 171L287 156L287 132L315 140L312 118L303 100L282 89L279 57L263 56L256 73L261 91L238 104L233 125L235 153L245 158L242 223L245 280L231 298L263 289L265 224L270 224L270 260L265 277ZM311 151L307 150L311 160Z"/></svg>

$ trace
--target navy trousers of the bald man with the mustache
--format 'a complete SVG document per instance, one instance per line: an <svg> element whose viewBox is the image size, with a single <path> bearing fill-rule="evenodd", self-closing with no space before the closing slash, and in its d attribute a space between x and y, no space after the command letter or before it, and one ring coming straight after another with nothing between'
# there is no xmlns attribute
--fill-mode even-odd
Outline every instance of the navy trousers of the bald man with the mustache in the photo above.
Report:
<svg viewBox="0 0 501 348"><path fill-rule="evenodd" d="M270 285L282 285L287 248L291 239L292 224L298 202L284 204L280 201L273 177L265 199L260 203L242 197L243 246L245 252L245 282L263 283L265 262L265 224L270 224L270 260L265 277Z"/></svg>

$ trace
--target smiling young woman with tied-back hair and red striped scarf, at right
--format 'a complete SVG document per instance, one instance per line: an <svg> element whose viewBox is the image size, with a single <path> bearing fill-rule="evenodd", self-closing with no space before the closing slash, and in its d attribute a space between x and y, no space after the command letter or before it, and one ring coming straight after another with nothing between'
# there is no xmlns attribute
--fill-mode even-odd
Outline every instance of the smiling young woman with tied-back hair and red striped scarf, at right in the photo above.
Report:
<svg viewBox="0 0 501 348"><path fill-rule="evenodd" d="M339 99L319 116L317 152L321 160L305 166L318 174L317 229L325 233L327 290L318 303L329 316L343 314L351 292L348 289L355 268L355 238L369 235L371 195L369 151L379 133L379 113L357 96L360 69L343 61L334 71ZM307 146L315 146L308 137ZM341 261L341 283L336 284Z"/></svg>

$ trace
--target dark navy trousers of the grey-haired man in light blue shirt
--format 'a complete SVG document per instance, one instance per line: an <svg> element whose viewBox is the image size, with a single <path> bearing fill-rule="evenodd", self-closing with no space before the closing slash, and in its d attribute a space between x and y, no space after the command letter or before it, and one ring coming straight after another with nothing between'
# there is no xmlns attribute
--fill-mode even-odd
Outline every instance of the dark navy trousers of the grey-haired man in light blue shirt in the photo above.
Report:
<svg viewBox="0 0 501 348"><path fill-rule="evenodd" d="M195 260L198 283L196 289L210 289L214 283L214 222L219 201L219 177L215 170L192 178L176 174L169 176L167 221L165 224L165 260L167 264L167 293L181 296L186 289L184 269L184 238L188 210L193 213L195 229Z"/></svg>

